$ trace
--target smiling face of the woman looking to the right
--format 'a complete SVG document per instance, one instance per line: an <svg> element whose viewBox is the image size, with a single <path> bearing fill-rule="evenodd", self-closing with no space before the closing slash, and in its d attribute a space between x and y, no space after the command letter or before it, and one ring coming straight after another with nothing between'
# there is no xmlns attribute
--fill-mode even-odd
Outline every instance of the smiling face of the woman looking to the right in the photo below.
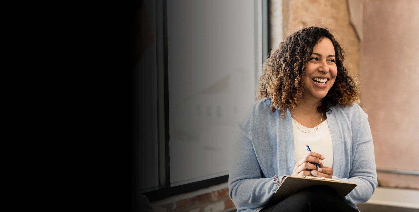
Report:
<svg viewBox="0 0 419 212"><path fill-rule="evenodd" d="M304 86L305 98L325 97L332 87L338 73L336 67L336 56L332 41L323 38L313 47L305 66Z"/></svg>

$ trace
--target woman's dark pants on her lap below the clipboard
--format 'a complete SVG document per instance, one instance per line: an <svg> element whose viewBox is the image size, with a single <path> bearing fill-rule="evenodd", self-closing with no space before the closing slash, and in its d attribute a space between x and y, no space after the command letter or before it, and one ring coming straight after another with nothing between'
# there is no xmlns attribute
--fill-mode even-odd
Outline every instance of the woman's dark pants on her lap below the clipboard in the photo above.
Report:
<svg viewBox="0 0 419 212"><path fill-rule="evenodd" d="M358 212L350 207L335 190L329 186L312 186L298 191L277 204L264 207L261 212L306 212L339 211Z"/></svg>

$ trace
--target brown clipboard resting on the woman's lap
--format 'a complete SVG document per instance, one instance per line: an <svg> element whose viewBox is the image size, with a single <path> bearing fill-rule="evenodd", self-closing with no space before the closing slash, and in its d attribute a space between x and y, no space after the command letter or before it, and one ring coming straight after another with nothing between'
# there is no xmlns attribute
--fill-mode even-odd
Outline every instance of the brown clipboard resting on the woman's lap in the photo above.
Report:
<svg viewBox="0 0 419 212"><path fill-rule="evenodd" d="M289 176L285 178L282 184L275 191L268 205L281 202L288 196L301 191L310 186L330 186L342 198L349 194L358 184L353 182L341 182L335 179L327 180L327 178L302 178Z"/></svg>

